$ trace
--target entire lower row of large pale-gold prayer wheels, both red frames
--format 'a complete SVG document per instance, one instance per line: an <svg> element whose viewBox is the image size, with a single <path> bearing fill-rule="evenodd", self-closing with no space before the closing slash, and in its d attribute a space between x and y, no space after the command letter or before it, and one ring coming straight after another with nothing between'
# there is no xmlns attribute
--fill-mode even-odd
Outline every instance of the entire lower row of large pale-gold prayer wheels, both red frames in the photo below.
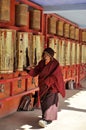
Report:
<svg viewBox="0 0 86 130"><path fill-rule="evenodd" d="M62 66L86 63L86 46L79 43L49 38L54 57ZM0 73L23 71L41 60L44 36L28 32L0 29Z"/></svg>

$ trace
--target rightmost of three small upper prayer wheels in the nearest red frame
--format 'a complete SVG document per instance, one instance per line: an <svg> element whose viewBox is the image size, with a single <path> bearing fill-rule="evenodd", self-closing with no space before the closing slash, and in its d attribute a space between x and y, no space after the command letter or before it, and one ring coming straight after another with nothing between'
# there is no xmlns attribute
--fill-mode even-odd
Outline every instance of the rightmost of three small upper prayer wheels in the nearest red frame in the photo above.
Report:
<svg viewBox="0 0 86 130"><path fill-rule="evenodd" d="M30 28L40 30L40 24L41 24L41 11L30 10Z"/></svg>

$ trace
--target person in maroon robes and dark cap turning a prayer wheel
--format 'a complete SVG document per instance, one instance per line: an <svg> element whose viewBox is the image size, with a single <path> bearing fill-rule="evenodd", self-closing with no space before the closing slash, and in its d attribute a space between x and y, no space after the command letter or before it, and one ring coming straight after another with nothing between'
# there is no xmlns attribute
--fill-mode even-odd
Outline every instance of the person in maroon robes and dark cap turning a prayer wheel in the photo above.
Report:
<svg viewBox="0 0 86 130"><path fill-rule="evenodd" d="M33 77L38 75L38 87L42 119L39 120L41 127L46 127L57 119L58 93L65 97L65 85L59 62L54 58L54 50L46 48L42 54L42 60L29 71Z"/></svg>

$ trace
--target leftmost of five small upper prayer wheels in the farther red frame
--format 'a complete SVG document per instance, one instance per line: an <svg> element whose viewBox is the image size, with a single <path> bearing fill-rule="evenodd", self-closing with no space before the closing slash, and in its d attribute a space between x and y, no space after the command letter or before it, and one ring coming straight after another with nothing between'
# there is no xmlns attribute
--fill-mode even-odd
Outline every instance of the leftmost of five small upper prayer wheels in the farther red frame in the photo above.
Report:
<svg viewBox="0 0 86 130"><path fill-rule="evenodd" d="M48 18L48 33L56 34L56 18Z"/></svg>

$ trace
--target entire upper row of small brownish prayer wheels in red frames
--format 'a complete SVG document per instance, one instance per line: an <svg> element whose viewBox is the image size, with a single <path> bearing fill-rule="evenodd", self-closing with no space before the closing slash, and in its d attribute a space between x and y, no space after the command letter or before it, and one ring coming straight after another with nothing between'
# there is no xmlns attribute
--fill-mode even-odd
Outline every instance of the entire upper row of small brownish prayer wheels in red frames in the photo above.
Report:
<svg viewBox="0 0 86 130"><path fill-rule="evenodd" d="M0 22L10 22L12 0L0 0ZM15 25L29 26L30 29L41 29L42 14L40 10L30 8L26 4L16 4L15 6ZM79 28L69 23L58 20L52 16L47 21L48 33L63 36L74 40L79 40ZM81 41L86 42L86 31L82 31Z"/></svg>

